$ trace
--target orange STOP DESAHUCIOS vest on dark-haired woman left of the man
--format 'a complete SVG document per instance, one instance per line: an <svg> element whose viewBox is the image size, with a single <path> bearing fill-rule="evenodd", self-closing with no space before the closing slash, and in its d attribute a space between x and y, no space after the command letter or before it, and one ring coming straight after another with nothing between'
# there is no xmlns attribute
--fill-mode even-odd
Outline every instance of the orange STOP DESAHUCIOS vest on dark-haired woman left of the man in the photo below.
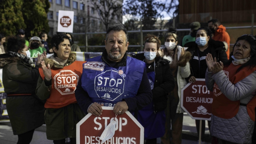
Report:
<svg viewBox="0 0 256 144"><path fill-rule="evenodd" d="M52 90L50 97L44 104L45 108L62 108L76 103L75 90L83 72L85 61L74 61L63 68L52 68ZM44 80L44 72L39 68L40 76Z"/></svg>

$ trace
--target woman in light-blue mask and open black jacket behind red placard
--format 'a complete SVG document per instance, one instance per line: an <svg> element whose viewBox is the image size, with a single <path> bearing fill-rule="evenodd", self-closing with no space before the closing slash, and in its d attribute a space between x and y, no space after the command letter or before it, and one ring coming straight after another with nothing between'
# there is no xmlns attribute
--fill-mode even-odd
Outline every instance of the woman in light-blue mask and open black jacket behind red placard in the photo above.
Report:
<svg viewBox="0 0 256 144"><path fill-rule="evenodd" d="M225 43L225 44L224 44ZM196 78L205 78L205 73L207 69L206 64L206 54L212 54L212 57L216 57L217 61L226 62L228 61L227 54L225 52L226 47L228 47L226 42L214 41L211 39L211 31L208 27L201 27L196 32L196 42L189 42L184 45L188 47L187 51L192 54L192 59L190 63L190 76L187 81L190 83L195 83ZM199 124L200 120L196 120L196 130L199 137ZM210 129L211 121L208 121L208 127ZM202 121L202 135L201 140L204 144L205 137L205 121Z"/></svg>

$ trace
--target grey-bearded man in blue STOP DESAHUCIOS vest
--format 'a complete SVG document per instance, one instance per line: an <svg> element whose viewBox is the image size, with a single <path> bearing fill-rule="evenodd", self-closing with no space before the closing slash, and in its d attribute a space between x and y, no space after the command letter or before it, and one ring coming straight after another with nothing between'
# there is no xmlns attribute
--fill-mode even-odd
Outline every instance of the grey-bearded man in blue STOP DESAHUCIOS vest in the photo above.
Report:
<svg viewBox="0 0 256 144"><path fill-rule="evenodd" d="M152 101L145 63L128 57L128 32L124 25L111 25L102 56L88 59L76 86L76 100L84 113L102 115L101 106L114 107L114 113L137 111Z"/></svg>

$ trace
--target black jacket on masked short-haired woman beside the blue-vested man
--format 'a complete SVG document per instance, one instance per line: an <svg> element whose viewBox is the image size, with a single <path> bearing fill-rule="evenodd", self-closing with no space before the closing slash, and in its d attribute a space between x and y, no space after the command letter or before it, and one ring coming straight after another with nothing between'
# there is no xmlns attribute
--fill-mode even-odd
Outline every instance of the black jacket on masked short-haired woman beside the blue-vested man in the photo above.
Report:
<svg viewBox="0 0 256 144"><path fill-rule="evenodd" d="M144 60L144 53L135 54L133 58ZM164 110L167 106L167 96L175 87L175 80L172 76L172 71L169 66L169 61L161 57L156 57L156 77L154 88L152 89L152 96L155 111Z"/></svg>

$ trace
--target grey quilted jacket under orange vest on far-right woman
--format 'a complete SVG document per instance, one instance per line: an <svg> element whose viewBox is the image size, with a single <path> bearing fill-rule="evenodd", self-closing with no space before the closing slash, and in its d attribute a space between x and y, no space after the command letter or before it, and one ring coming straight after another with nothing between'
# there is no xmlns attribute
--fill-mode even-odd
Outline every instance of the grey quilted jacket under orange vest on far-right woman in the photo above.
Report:
<svg viewBox="0 0 256 144"><path fill-rule="evenodd" d="M236 84L232 84L224 71L213 74L208 69L205 74L205 83L208 90L213 91L213 85L222 86L221 92L232 101L240 100L240 103L247 104L256 95L256 71ZM212 115L211 134L222 140L239 144L252 142L254 122L247 112L246 106L239 106L236 116L225 119Z"/></svg>

